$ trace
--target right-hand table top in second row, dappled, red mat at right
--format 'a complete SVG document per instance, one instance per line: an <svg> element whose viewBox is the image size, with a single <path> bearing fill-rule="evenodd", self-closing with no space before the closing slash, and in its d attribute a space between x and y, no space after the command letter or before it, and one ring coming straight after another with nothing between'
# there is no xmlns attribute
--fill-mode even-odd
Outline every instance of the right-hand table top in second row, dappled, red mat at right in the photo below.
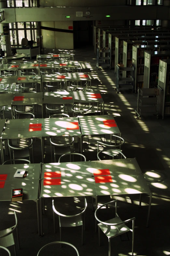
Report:
<svg viewBox="0 0 170 256"><path fill-rule="evenodd" d="M120 134L112 115L78 117L82 135Z"/></svg>

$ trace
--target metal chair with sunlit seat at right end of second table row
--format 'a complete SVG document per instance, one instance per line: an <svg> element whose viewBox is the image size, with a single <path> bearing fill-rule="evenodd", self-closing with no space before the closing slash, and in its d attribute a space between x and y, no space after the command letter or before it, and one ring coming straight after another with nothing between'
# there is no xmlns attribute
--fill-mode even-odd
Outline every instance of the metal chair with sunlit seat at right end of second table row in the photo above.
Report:
<svg viewBox="0 0 170 256"><path fill-rule="evenodd" d="M111 145L111 143L113 142L113 140L112 140L113 138L114 138L114 144L115 145ZM119 144L117 144L118 139L119 139ZM99 160L101 160L100 159L101 153L114 158L115 156L119 155L120 152L122 152L122 150L118 149L118 147L122 146L124 143L125 143L124 139L121 138L120 136L115 135L115 134L110 134L110 144L106 144L106 143L97 141L97 158ZM105 148L103 150L99 151L99 145L104 145ZM116 150L112 149L112 148L115 148Z"/></svg>

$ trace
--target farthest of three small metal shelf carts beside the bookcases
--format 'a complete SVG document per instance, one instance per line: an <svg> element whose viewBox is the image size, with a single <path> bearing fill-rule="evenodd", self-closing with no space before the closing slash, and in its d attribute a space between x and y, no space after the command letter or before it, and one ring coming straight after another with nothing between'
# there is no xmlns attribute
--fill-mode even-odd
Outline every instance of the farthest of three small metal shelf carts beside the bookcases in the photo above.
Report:
<svg viewBox="0 0 170 256"><path fill-rule="evenodd" d="M107 56L104 56L105 53ZM97 48L96 68L110 68L110 49L107 47L106 50L99 50Z"/></svg>

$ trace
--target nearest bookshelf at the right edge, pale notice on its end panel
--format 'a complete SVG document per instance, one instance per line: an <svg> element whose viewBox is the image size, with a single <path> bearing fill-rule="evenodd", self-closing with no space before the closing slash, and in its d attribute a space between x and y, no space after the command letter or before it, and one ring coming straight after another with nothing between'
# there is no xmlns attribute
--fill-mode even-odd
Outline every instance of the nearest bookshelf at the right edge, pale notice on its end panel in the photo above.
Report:
<svg viewBox="0 0 170 256"><path fill-rule="evenodd" d="M160 60L158 77L158 111L162 115L170 116L170 60Z"/></svg>

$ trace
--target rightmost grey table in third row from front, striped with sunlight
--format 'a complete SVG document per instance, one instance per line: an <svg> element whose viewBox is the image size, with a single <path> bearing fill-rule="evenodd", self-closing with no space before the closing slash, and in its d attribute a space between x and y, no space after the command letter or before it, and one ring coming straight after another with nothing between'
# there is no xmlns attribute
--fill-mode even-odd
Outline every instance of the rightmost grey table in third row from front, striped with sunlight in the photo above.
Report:
<svg viewBox="0 0 170 256"><path fill-rule="evenodd" d="M97 103L97 112L100 104L100 114L103 113L104 115L104 100L102 95L98 90L91 90L91 91L73 91L73 101L74 104L76 103L90 103L92 104L92 112L94 112L94 103ZM103 104L103 111L102 111L102 104ZM89 106L90 107L90 106Z"/></svg>

